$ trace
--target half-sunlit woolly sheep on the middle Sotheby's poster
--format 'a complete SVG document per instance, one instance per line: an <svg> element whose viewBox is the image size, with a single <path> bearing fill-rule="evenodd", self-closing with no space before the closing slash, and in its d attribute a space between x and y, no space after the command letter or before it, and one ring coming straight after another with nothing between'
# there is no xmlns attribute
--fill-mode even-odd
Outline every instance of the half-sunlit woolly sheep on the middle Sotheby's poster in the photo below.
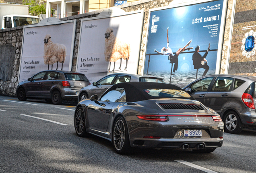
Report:
<svg viewBox="0 0 256 173"><path fill-rule="evenodd" d="M109 69L110 71L110 66L111 62L114 62L114 68L113 72L115 70L115 64L116 61L120 59L120 67L119 69L121 70L121 65L122 65L122 59L126 60L126 67L124 68L125 70L127 69L127 63L130 57L130 44L126 42L122 42L116 36L113 34L113 29L112 28L107 28L105 32L105 60L109 62Z"/></svg>

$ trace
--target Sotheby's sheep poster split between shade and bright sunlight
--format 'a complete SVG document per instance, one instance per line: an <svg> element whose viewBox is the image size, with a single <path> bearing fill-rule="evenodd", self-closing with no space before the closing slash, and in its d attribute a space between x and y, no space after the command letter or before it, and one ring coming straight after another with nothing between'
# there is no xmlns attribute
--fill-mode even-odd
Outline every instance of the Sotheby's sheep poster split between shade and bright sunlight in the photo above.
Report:
<svg viewBox="0 0 256 173"><path fill-rule="evenodd" d="M113 72L136 74L143 12L82 19L76 71L90 82Z"/></svg>

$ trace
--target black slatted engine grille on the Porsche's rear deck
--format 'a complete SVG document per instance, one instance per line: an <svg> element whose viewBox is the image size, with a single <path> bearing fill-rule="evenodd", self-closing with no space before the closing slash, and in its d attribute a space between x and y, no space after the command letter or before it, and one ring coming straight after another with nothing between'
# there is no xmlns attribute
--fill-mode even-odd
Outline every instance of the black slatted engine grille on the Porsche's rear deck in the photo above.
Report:
<svg viewBox="0 0 256 173"><path fill-rule="evenodd" d="M204 110L201 105L181 104L181 103L160 103L163 109L190 109L190 110Z"/></svg>

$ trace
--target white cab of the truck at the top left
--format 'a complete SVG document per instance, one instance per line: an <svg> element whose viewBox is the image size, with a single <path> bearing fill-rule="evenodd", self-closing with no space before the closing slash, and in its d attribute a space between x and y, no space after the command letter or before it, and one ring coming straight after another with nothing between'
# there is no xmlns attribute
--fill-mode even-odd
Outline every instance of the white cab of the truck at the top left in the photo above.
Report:
<svg viewBox="0 0 256 173"><path fill-rule="evenodd" d="M39 22L39 17L21 14L10 14L3 16L2 29L13 28L28 24L35 24Z"/></svg>

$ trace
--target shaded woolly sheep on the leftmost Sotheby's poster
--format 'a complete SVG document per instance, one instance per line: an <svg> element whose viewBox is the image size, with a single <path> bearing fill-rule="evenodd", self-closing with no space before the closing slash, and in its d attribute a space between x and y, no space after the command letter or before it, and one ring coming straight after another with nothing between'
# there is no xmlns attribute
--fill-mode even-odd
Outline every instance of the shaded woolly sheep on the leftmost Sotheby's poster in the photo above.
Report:
<svg viewBox="0 0 256 173"><path fill-rule="evenodd" d="M44 51L43 51L43 60L44 64L52 65L57 62L58 70L58 62L62 63L61 70L63 69L63 63L66 58L67 48L64 44L53 43L51 40L51 35L46 34L44 38Z"/></svg>

